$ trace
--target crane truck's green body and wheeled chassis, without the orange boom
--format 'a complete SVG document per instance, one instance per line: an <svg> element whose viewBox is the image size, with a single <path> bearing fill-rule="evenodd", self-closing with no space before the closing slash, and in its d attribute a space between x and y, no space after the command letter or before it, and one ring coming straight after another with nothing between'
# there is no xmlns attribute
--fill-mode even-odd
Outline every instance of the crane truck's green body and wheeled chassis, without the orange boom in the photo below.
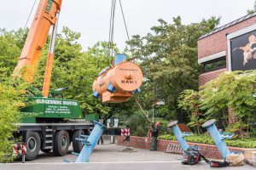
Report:
<svg viewBox="0 0 256 170"><path fill-rule="evenodd" d="M75 139L88 135L93 127L92 122L85 121L78 101L55 99L62 97L60 89L50 96L27 97L26 106L20 109L22 119L15 138L21 137L26 143L26 160L35 159L39 150L53 150L55 156L65 156L71 142L73 151L79 153L82 144Z"/></svg>

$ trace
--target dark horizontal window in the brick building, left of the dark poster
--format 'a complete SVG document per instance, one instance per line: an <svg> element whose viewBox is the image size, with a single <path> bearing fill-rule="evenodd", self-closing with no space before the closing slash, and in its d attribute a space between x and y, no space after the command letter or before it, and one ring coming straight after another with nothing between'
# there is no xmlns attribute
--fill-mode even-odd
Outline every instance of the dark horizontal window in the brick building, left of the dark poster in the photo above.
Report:
<svg viewBox="0 0 256 170"><path fill-rule="evenodd" d="M207 61L206 63L203 63L203 65L204 72L217 71L219 69L226 68L226 57L221 57L218 59Z"/></svg>

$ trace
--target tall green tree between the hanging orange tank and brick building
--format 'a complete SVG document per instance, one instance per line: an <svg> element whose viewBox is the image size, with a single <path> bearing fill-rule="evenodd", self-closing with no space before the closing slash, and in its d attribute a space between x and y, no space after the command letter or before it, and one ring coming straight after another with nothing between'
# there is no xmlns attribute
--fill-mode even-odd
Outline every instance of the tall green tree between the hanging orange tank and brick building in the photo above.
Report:
<svg viewBox="0 0 256 170"><path fill-rule="evenodd" d="M189 25L183 25L180 17L173 18L172 24L159 20L159 26L151 28L153 33L133 36L129 45L145 76L139 100L147 110L153 99L158 98L166 100L165 106L157 108L159 116L171 119L181 112L177 108L179 94L183 89L198 87L201 68L197 64L197 40L215 29L219 20L212 17ZM156 89L161 93L154 93Z"/></svg>

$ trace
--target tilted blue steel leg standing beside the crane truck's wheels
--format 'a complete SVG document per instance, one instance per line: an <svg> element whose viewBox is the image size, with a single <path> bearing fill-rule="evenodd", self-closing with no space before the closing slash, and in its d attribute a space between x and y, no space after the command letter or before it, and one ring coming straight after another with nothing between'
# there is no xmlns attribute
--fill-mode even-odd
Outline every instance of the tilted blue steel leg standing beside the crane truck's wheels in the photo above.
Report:
<svg viewBox="0 0 256 170"><path fill-rule="evenodd" d="M90 136L88 137L87 141L84 142L84 147L79 153L79 156L75 162L89 162L90 154L95 148L97 141L101 138L102 133L105 129L107 129L107 127L102 125L102 123L94 122L94 128L90 133Z"/></svg>

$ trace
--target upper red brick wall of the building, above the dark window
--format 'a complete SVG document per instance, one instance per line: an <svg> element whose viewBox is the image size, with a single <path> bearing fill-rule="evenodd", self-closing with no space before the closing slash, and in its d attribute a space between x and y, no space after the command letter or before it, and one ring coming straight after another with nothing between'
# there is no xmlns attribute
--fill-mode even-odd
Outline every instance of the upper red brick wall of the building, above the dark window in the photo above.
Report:
<svg viewBox="0 0 256 170"><path fill-rule="evenodd" d="M217 54L227 49L226 34L239 31L248 26L256 24L256 17L252 17L248 20L244 20L234 26L230 26L223 31L218 31L208 37L200 39L198 43L198 58L204 58L206 56ZM227 53L228 54L228 53Z"/></svg>

